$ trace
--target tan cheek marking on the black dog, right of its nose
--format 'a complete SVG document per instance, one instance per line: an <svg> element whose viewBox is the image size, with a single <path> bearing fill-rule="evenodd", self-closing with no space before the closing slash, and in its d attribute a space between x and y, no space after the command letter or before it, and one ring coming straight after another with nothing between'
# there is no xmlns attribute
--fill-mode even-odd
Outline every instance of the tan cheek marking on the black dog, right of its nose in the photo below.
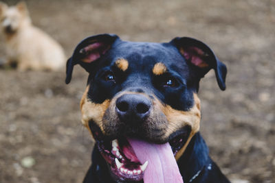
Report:
<svg viewBox="0 0 275 183"><path fill-rule="evenodd" d="M166 118L169 123L165 136L169 136L176 130L186 125L191 127L190 136L188 137L188 140L186 141L186 144L184 145L184 147L182 147L177 152L175 156L176 160L178 160L179 157L184 153L192 136L194 136L194 134L199 132L199 122L201 120L201 111L200 111L201 104L200 104L199 97L197 97L197 94L194 93L193 96L195 100L195 105L189 111L175 110L170 106L165 106L165 107L162 106L162 111L166 115Z"/></svg>

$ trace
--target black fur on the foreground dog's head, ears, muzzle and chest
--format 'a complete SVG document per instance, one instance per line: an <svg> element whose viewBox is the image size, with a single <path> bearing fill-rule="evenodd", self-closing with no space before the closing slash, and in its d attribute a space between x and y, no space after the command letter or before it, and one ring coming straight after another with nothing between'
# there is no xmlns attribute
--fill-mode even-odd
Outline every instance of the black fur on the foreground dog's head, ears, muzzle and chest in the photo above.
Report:
<svg viewBox="0 0 275 183"><path fill-rule="evenodd" d="M95 42L100 42L100 47L95 50L100 58L91 60L90 63L82 62L81 60L85 60L87 57L86 53L83 54L83 48ZM203 59L203 63L207 66L196 65L196 62L192 62L192 59L188 60L189 56L198 56ZM119 58L129 60L131 63L125 72L114 66L115 61ZM166 65L168 73L159 76L148 74L152 73L151 69L158 62ZM165 103L175 110L188 112L194 106L193 93L198 92L201 77L208 73L210 69L214 69L219 87L221 90L225 90L225 75L227 72L225 65L217 59L207 45L193 38L175 38L171 42L159 44L125 42L120 40L118 36L110 34L92 36L80 42L72 58L68 60L66 83L69 83L72 78L75 64L80 64L89 72L87 84L90 85L90 88L87 95L93 103L102 103L106 99L113 99L118 93L131 91L144 93L151 99L154 99L155 96L161 103ZM108 71L115 73L116 78L118 78L115 82L102 80L102 75L106 77ZM167 78L173 78L175 86L164 87ZM138 119L135 123L125 123L120 117L110 116L113 113L109 110L106 110L103 117L103 121L106 121L106 123L103 123L105 134L100 134L100 130L98 130L99 128L94 121L89 121L93 134L95 129L99 132L95 137L97 141L114 139L118 136L134 136L154 143L166 143L180 132L187 133L188 131L188 134L190 134L190 130L186 131L185 127L175 130L165 138L159 137L162 130L154 131L157 126L152 127L152 123L154 125L166 124L166 119L160 117L160 114L156 113L153 116L157 118L157 121ZM113 122L111 127L108 123L110 118ZM127 119L125 120L127 121ZM142 125L140 125L141 123ZM92 128L91 125L93 125ZM109 167L97 147L94 148L92 162L93 164L85 177L85 183L115 182L109 175ZM208 147L199 132L192 136L188 147L177 161L177 164L184 182L229 182L208 156Z"/></svg>

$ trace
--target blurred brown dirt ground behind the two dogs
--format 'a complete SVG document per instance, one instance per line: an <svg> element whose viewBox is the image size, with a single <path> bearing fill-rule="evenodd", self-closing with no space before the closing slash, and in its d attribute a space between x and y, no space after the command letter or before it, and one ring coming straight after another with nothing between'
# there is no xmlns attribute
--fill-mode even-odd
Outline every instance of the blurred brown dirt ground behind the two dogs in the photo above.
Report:
<svg viewBox="0 0 275 183"><path fill-rule="evenodd" d="M16 1L6 0L12 5ZM201 133L235 183L275 182L275 1L26 1L34 25L69 57L93 34L133 41L190 36L228 66L227 90L214 72L201 81ZM5 58L0 39L0 60ZM26 44L28 46L28 44ZM80 123L87 73L0 70L0 182L81 182L93 141Z"/></svg>

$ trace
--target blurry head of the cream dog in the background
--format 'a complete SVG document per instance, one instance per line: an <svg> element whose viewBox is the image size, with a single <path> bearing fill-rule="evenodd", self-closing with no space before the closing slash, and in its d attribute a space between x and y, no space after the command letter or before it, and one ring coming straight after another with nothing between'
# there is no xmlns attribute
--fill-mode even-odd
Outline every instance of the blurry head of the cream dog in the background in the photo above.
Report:
<svg viewBox="0 0 275 183"><path fill-rule="evenodd" d="M21 26L30 23L27 6L23 1L11 7L0 2L0 21L5 34L14 34Z"/></svg>

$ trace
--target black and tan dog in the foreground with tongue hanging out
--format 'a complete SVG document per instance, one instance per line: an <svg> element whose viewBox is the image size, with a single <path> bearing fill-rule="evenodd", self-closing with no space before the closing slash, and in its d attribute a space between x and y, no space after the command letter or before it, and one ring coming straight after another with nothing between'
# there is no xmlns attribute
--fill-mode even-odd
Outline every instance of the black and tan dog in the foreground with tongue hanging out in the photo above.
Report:
<svg viewBox="0 0 275 183"><path fill-rule="evenodd" d="M199 133L199 81L214 69L225 90L226 66L210 47L100 34L77 45L66 84L76 64L89 73L80 109L96 140L83 182L229 182Z"/></svg>

